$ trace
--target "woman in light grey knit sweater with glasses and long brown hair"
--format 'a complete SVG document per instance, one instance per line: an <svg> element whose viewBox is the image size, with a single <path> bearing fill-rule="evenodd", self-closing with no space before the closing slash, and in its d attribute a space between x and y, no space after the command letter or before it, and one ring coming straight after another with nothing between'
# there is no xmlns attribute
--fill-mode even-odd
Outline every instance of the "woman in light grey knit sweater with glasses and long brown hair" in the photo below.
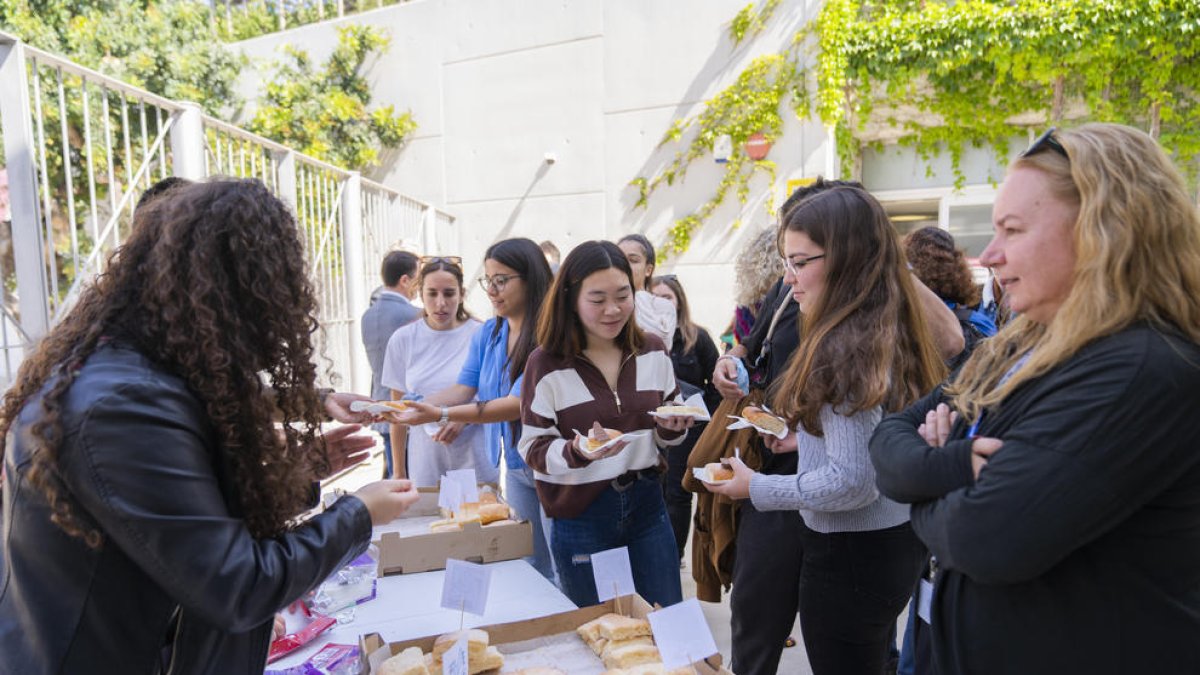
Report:
<svg viewBox="0 0 1200 675"><path fill-rule="evenodd" d="M732 460L709 490L803 519L799 616L814 673L882 673L896 616L924 548L908 508L880 495L866 442L944 375L899 238L859 187L820 192L784 215L781 246L803 322L772 405L793 430L770 438L798 453L792 476Z"/></svg>

